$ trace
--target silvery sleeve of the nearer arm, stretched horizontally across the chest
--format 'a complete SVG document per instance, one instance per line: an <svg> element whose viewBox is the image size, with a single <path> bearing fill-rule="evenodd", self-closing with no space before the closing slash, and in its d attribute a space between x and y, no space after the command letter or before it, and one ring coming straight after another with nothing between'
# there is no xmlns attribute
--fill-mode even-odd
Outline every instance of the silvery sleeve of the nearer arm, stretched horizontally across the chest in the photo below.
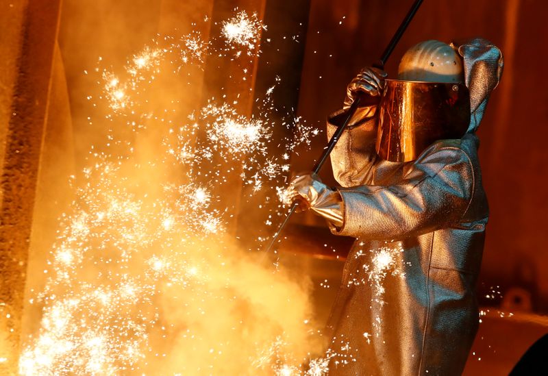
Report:
<svg viewBox="0 0 548 376"><path fill-rule="evenodd" d="M471 202L473 165L458 147L423 155L393 185L340 188L344 222L332 232L397 240L457 224Z"/></svg>

